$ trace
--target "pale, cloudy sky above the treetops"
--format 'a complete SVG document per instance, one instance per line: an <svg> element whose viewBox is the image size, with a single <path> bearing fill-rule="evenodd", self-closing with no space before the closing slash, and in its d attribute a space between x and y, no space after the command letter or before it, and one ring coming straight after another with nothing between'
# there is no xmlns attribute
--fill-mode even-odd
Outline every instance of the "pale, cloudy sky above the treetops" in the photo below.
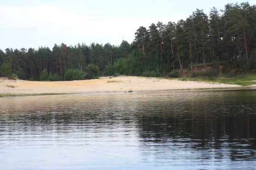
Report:
<svg viewBox="0 0 256 170"><path fill-rule="evenodd" d="M255 0L0 0L0 50L131 43L140 27Z"/></svg>

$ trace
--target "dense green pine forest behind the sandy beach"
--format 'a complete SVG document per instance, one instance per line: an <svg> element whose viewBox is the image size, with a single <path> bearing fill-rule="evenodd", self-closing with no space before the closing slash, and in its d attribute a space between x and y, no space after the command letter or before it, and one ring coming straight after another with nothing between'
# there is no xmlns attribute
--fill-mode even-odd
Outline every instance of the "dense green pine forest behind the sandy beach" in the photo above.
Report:
<svg viewBox="0 0 256 170"><path fill-rule="evenodd" d="M139 27L130 44L84 43L0 50L0 74L28 80L93 79L100 75L166 76L193 65L224 63L224 68L256 68L256 6L248 2L196 9L177 23ZM6 67L8 65L9 67ZM218 68L218 67L215 67ZM7 73L7 74L8 74Z"/></svg>

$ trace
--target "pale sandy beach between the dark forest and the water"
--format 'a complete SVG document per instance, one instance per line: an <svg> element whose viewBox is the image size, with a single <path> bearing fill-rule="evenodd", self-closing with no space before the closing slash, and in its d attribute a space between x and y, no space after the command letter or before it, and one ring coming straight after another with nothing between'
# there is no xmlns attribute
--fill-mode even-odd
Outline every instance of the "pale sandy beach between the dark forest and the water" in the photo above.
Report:
<svg viewBox="0 0 256 170"><path fill-rule="evenodd" d="M250 86L252 88L256 87ZM98 93L98 92L127 92L133 91L165 91L191 90L212 88L242 88L240 85L219 83L205 83L196 81L180 81L169 79L145 78L135 76L101 77L100 79L79 81L25 81L0 79L0 94L7 95L34 95L42 93Z"/></svg>

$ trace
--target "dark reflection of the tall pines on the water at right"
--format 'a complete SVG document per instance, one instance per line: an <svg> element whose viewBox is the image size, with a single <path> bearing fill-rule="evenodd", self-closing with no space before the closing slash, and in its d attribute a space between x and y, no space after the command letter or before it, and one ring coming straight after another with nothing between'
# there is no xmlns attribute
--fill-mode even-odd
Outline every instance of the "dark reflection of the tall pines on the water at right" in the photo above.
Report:
<svg viewBox="0 0 256 170"><path fill-rule="evenodd" d="M232 160L256 159L255 91L204 91L196 95L184 92L182 95L189 97L185 96L182 102L176 101L175 95L162 98L145 110L138 119L143 142L214 149L215 159L226 155ZM209 155L204 158L212 159Z"/></svg>

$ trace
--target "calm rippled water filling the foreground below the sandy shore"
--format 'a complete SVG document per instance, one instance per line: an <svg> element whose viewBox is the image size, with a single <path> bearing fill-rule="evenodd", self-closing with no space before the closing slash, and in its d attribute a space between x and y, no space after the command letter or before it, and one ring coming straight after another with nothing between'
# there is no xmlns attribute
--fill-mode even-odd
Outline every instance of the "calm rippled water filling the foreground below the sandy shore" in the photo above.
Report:
<svg viewBox="0 0 256 170"><path fill-rule="evenodd" d="M255 167L255 90L0 98L1 170Z"/></svg>

